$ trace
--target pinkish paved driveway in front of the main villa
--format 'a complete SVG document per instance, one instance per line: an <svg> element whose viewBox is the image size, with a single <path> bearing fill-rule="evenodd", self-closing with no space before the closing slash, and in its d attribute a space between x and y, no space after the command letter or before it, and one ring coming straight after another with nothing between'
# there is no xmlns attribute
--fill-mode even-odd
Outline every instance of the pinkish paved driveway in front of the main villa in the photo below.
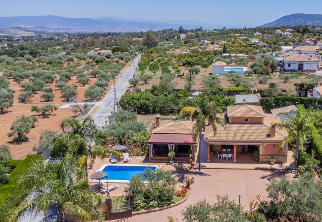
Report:
<svg viewBox="0 0 322 222"><path fill-rule="evenodd" d="M282 172L274 171L228 169L204 169L202 175L194 174L195 184L192 185L190 195L183 204L155 213L134 216L129 218L129 222L167 222L168 216L178 218L181 222L181 211L188 205L203 199L214 203L216 195L225 194L236 203L240 195L240 204L246 210L249 202L256 199L256 194L260 193L262 199L267 198L266 187L271 178L283 175Z"/></svg>

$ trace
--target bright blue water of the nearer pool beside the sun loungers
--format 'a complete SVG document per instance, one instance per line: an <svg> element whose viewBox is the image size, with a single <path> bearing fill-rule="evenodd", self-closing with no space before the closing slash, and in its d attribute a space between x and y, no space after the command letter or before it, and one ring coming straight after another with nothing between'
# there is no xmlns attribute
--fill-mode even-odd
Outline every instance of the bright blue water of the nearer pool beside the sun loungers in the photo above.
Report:
<svg viewBox="0 0 322 222"><path fill-rule="evenodd" d="M129 181L133 176L142 174L147 168L155 171L157 167L108 165L103 169L103 171L107 172L108 180Z"/></svg>

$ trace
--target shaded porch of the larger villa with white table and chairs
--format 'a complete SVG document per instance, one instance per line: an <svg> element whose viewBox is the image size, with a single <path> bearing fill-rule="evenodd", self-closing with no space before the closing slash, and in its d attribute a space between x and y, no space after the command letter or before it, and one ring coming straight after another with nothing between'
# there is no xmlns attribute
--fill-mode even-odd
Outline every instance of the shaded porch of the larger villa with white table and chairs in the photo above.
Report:
<svg viewBox="0 0 322 222"><path fill-rule="evenodd" d="M243 142L207 142L207 162L258 163L254 157L255 150L261 150L263 143Z"/></svg>

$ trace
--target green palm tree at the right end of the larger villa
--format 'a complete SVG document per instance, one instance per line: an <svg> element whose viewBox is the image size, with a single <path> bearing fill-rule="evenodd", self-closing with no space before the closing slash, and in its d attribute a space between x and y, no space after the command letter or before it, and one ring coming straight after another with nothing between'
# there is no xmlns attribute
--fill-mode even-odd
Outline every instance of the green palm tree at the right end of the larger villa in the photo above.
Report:
<svg viewBox="0 0 322 222"><path fill-rule="evenodd" d="M302 105L298 105L297 109L292 116L288 116L289 119L270 126L270 129L276 127L287 130L288 136L281 143L279 150L281 151L286 144L295 143L295 166L297 166L299 149L303 150L307 142L307 133L314 129L310 113Z"/></svg>

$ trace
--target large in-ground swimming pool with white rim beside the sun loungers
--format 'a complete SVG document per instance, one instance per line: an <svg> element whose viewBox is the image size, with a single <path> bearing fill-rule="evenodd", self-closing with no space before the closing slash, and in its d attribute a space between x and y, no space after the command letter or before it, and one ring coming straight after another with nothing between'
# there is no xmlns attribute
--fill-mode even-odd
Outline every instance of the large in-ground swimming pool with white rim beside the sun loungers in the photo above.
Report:
<svg viewBox="0 0 322 222"><path fill-rule="evenodd" d="M99 171L107 172L108 182L128 183L133 176L142 174L146 169L155 171L159 167L159 165L104 164Z"/></svg>

